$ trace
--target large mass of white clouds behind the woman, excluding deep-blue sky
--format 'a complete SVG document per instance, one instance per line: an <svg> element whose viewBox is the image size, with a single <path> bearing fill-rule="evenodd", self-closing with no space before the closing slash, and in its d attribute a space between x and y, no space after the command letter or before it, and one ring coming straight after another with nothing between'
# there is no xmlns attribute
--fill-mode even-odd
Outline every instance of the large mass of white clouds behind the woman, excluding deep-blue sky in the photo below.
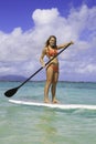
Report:
<svg viewBox="0 0 96 144"><path fill-rule="evenodd" d="M86 80L89 74L96 75L96 7L84 4L79 9L72 8L66 18L57 8L36 9L32 20L34 27L25 32L21 28L14 28L11 33L0 31L1 75L29 76L35 72L41 66L40 54L51 34L57 37L57 44L71 40L75 42L58 56L61 80L75 80L77 75L76 80L79 81L79 74L86 75Z"/></svg>

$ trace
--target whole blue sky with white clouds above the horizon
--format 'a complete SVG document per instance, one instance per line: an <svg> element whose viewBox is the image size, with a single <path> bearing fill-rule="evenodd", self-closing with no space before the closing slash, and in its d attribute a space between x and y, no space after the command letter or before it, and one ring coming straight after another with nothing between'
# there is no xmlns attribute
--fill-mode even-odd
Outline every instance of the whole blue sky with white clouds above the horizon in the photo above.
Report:
<svg viewBox="0 0 96 144"><path fill-rule="evenodd" d="M0 76L32 75L53 34L74 41L58 56L60 81L96 82L96 0L0 0ZM45 80L45 69L32 80Z"/></svg>

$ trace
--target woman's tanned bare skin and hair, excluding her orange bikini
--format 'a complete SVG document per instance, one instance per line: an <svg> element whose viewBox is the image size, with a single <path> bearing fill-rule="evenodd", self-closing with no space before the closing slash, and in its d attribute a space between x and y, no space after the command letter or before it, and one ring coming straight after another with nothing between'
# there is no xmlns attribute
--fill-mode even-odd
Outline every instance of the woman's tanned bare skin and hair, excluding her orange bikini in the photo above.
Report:
<svg viewBox="0 0 96 144"><path fill-rule="evenodd" d="M64 44L61 44L61 45L56 45L56 49L60 50L60 49L64 49L66 48L67 44L74 44L73 41L68 42L68 43L64 43ZM42 64L42 66L45 66L45 63L44 63L44 56L46 55L47 56L47 47L49 49L53 49L53 45L56 44L56 38L54 35L50 37L49 40L47 40L47 45L44 47L43 51L42 51L42 54L41 54L41 58L40 58L40 62ZM50 56L49 59L52 59L53 56ZM45 82L45 86L44 86L44 102L45 103L51 103L51 101L49 100L49 90L51 88L51 93L52 93L52 103L58 103L58 101L56 100L55 97L55 94L56 94L56 84L57 84L57 80L58 80L58 72L54 72L51 64L52 63L55 63L56 65L58 65L58 59L57 56L55 59L53 59L47 66L46 69L46 82Z"/></svg>

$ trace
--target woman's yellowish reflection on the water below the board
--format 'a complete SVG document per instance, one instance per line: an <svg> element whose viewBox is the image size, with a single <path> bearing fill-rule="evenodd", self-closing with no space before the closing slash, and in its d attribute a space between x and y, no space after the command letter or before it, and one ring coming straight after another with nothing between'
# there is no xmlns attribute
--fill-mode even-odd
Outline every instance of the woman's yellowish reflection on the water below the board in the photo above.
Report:
<svg viewBox="0 0 96 144"><path fill-rule="evenodd" d="M55 125L56 113L51 109L44 109L43 114L40 116L40 122L36 125L39 131L42 133L41 142L43 144L53 144L56 138L58 131ZM54 138L55 137L55 138Z"/></svg>

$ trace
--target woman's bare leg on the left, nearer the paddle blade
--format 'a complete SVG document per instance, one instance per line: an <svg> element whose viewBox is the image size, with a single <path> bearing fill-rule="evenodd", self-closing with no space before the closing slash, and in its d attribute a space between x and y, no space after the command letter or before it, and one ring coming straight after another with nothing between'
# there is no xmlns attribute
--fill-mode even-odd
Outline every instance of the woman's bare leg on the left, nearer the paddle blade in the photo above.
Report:
<svg viewBox="0 0 96 144"><path fill-rule="evenodd" d="M50 103L50 100L49 100L49 90L50 90L52 80L53 80L53 69L50 65L47 68L47 70L46 70L46 83L45 83L45 88L44 88L44 102L45 103Z"/></svg>

